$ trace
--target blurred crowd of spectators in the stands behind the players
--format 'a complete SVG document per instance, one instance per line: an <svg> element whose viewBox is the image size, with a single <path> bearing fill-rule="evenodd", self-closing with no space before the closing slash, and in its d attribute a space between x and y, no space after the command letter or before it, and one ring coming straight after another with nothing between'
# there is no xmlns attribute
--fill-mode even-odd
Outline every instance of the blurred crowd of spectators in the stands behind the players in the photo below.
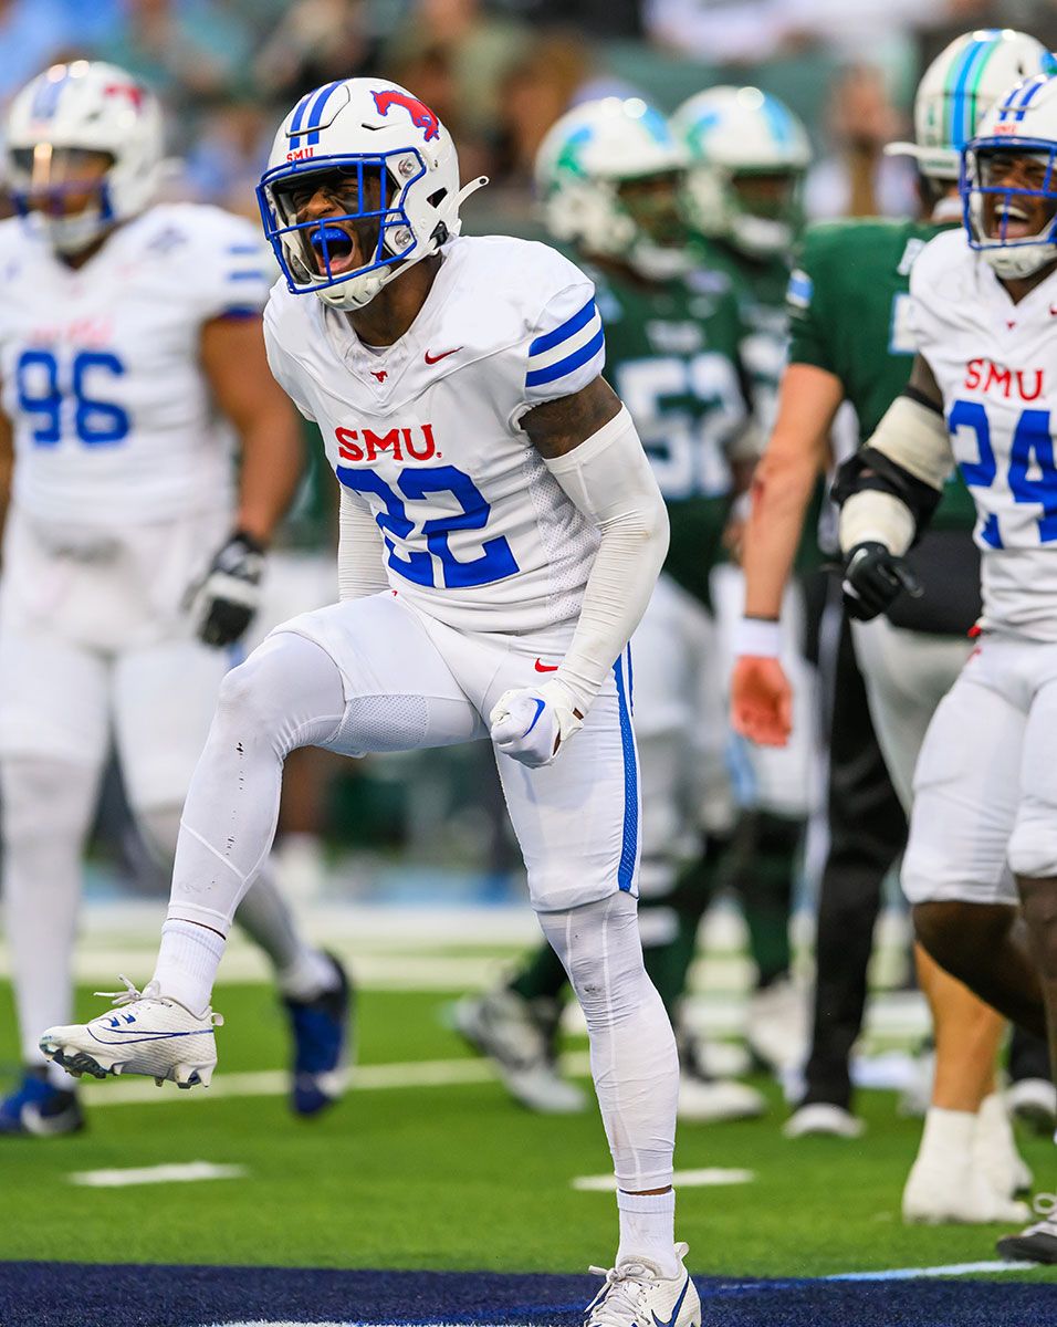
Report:
<svg viewBox="0 0 1057 1327"><path fill-rule="evenodd" d="M410 86L492 187L468 228L532 234L530 174L576 101L662 110L716 82L759 84L808 125L810 216L912 211L915 81L951 37L1016 27L1057 46L1054 0L0 0L0 104L58 58L111 60L164 100L172 191L253 215L282 114L332 78Z"/></svg>

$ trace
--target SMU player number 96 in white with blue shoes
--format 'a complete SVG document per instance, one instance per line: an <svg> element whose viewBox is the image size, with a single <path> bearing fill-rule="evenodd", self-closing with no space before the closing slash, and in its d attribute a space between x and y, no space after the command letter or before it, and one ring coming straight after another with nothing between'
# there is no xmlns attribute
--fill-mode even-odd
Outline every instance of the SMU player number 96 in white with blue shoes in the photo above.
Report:
<svg viewBox="0 0 1057 1327"><path fill-rule="evenodd" d="M113 65L56 65L16 97L5 138L23 216L0 223L0 453L13 453L0 807L27 1072L0 1132L57 1133L81 1112L37 1043L42 1022L70 1016L81 852L107 747L145 839L171 860L301 451L265 362L257 235L212 207L151 206L153 94ZM345 981L271 882L247 904L239 920L272 958L297 1032L294 1107L312 1113L334 1095Z"/></svg>

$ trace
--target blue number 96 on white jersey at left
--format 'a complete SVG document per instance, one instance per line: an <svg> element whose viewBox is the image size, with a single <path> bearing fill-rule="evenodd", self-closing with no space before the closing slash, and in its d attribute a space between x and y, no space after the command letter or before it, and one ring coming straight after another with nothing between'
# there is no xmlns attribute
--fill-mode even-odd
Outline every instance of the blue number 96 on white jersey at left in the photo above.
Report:
<svg viewBox="0 0 1057 1327"><path fill-rule="evenodd" d="M78 350L69 362L52 350L23 350L15 369L19 409L31 417L33 442L53 447L62 441L62 406L73 401L73 431L86 447L123 442L129 414L113 401L99 399L107 378L122 377L125 365L109 350ZM68 390L64 385L69 384Z"/></svg>

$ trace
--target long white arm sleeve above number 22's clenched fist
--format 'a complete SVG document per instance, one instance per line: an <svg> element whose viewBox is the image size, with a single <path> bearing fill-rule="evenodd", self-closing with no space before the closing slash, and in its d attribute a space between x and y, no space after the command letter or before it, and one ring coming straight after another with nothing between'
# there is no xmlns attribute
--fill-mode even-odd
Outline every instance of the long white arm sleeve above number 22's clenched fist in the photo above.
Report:
<svg viewBox="0 0 1057 1327"><path fill-rule="evenodd" d="M586 714L650 602L668 551L668 514L626 409L546 467L602 536L557 673Z"/></svg>

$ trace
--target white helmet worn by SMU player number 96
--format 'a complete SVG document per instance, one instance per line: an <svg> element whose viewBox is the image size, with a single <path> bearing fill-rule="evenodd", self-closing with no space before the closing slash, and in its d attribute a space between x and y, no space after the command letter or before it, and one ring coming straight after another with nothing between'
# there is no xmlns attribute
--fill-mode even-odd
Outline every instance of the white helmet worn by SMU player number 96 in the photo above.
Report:
<svg viewBox="0 0 1057 1327"><path fill-rule="evenodd" d="M52 65L12 101L4 151L19 212L32 212L60 253L78 253L151 202L162 175L162 109L117 65ZM66 216L64 198L85 191L73 169L85 153L113 165L92 202Z"/></svg>

